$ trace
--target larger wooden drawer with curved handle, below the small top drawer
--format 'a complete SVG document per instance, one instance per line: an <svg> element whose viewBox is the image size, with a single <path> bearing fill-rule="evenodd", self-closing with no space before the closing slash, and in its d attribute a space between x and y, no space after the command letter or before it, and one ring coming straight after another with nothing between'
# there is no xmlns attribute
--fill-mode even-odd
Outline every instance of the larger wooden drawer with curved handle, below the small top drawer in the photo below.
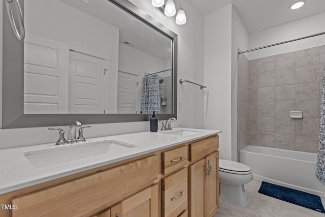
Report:
<svg viewBox="0 0 325 217"><path fill-rule="evenodd" d="M184 168L163 179L163 217L178 216L187 210L187 171Z"/></svg>

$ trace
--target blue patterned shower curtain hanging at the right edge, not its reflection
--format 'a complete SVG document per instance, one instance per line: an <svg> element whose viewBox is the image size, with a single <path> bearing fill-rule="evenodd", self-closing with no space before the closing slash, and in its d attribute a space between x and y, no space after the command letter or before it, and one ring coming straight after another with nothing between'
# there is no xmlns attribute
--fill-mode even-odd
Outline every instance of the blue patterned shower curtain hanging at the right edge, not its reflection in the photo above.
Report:
<svg viewBox="0 0 325 217"><path fill-rule="evenodd" d="M316 177L325 183L325 66L320 102L319 146L316 164Z"/></svg>

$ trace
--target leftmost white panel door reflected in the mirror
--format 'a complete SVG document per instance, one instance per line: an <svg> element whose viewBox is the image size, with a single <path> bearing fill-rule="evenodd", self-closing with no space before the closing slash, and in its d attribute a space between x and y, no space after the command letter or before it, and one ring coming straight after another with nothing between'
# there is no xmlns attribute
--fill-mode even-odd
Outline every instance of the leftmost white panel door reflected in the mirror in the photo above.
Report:
<svg viewBox="0 0 325 217"><path fill-rule="evenodd" d="M68 113L68 44L26 35L24 113Z"/></svg>

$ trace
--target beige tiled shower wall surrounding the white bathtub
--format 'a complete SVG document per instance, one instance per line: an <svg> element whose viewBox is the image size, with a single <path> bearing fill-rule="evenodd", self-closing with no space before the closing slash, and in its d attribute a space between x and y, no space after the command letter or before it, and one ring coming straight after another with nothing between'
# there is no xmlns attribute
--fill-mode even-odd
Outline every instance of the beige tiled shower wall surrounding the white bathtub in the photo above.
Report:
<svg viewBox="0 0 325 217"><path fill-rule="evenodd" d="M250 144L316 153L325 46L246 59L238 60L238 150Z"/></svg>

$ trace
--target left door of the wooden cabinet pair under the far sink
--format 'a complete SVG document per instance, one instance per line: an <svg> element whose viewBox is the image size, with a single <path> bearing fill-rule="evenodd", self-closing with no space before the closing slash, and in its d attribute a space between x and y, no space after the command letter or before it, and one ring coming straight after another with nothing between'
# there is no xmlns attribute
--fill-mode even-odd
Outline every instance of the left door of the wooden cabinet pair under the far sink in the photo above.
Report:
<svg viewBox="0 0 325 217"><path fill-rule="evenodd" d="M189 166L189 216L204 216L205 162L201 159Z"/></svg>

